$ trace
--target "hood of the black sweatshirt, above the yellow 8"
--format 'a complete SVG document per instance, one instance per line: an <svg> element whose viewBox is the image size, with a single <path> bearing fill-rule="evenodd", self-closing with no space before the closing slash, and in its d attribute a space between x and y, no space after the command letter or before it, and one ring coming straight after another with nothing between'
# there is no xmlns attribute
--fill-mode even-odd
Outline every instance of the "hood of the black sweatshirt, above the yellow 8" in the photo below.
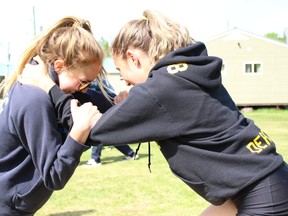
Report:
<svg viewBox="0 0 288 216"><path fill-rule="evenodd" d="M208 56L204 43L197 42L170 52L159 60L152 71L179 63L186 63L189 69L174 75L187 79L206 90L215 90L221 85L222 59Z"/></svg>

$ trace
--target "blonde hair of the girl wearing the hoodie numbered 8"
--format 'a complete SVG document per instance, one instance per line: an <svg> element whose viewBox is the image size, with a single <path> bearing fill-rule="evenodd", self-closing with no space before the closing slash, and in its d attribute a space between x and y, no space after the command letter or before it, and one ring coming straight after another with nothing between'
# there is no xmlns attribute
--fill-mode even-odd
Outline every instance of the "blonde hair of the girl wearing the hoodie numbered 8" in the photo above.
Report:
<svg viewBox="0 0 288 216"><path fill-rule="evenodd" d="M125 58L129 47L141 49L155 64L169 52L195 43L189 31L157 11L145 10L143 17L125 24L112 43L112 55Z"/></svg>

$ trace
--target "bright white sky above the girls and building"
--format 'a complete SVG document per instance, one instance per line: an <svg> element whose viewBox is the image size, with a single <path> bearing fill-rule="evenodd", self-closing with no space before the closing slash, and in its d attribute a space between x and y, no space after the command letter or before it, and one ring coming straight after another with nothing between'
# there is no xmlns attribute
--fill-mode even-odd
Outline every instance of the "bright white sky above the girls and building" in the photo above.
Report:
<svg viewBox="0 0 288 216"><path fill-rule="evenodd" d="M7 63L8 54L12 64L18 60L34 26L39 33L75 15L90 21L97 39L110 42L123 24L142 17L145 9L162 12L204 42L235 27L259 36L275 32L283 37L288 30L287 0L9 0L0 3L0 63Z"/></svg>

